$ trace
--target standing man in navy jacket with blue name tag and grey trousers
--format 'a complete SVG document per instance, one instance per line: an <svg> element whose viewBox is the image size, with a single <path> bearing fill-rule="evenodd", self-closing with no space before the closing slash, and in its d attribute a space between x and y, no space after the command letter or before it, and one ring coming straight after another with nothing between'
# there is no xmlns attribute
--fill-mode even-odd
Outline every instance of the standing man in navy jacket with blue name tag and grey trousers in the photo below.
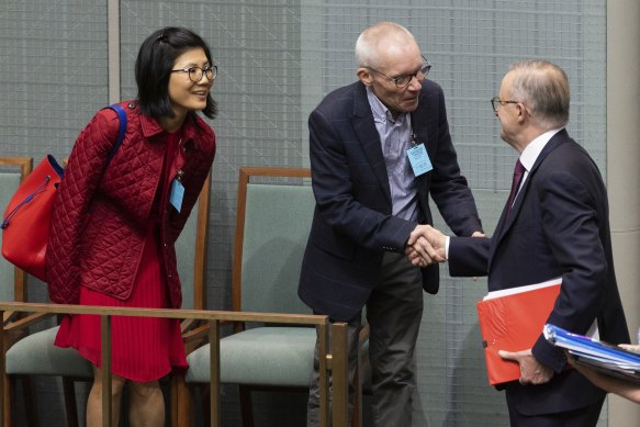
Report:
<svg viewBox="0 0 640 427"><path fill-rule="evenodd" d="M422 289L438 291L438 266L427 265L441 259L426 247L425 268L414 267L406 241L431 224L428 194L456 234L482 228L442 90L425 79L430 65L413 35L391 22L372 25L356 59L359 81L328 94L308 120L316 207L299 295L315 313L349 323L351 374L367 306L374 425L411 426ZM317 383L316 372L308 426L318 424Z"/></svg>

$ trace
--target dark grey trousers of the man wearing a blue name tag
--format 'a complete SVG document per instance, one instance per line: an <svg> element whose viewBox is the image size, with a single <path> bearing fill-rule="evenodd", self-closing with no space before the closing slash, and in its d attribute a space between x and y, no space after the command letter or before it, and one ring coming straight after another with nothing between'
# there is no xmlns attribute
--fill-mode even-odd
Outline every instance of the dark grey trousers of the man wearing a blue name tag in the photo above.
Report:
<svg viewBox="0 0 640 427"><path fill-rule="evenodd" d="M412 425L416 387L414 350L423 316L422 274L401 254L384 255L381 278L367 301L369 360L371 362L372 416L374 427ZM361 316L349 322L349 417L352 379L357 367ZM316 342L314 373L307 404L307 427L319 426L319 360ZM350 423L350 418L349 418Z"/></svg>

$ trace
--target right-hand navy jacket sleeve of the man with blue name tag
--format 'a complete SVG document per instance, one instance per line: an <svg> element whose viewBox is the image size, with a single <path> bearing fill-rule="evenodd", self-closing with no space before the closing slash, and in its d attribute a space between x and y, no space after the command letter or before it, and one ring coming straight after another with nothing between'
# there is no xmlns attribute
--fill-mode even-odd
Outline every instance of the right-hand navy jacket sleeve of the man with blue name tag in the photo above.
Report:
<svg viewBox="0 0 640 427"><path fill-rule="evenodd" d="M429 193L449 228L457 236L469 237L474 232L482 232L482 224L467 178L460 173L458 155L449 133L445 94L439 87L435 108L438 111L438 135L436 155L431 159L434 175Z"/></svg>

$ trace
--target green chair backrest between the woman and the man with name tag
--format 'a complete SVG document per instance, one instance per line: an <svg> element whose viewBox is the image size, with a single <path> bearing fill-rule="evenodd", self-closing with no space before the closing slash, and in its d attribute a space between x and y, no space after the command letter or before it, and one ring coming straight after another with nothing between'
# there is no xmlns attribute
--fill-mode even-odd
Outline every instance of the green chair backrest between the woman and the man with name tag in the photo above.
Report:
<svg viewBox="0 0 640 427"><path fill-rule="evenodd" d="M235 311L311 312L297 297L315 206L310 178L304 168L240 168L233 266Z"/></svg>

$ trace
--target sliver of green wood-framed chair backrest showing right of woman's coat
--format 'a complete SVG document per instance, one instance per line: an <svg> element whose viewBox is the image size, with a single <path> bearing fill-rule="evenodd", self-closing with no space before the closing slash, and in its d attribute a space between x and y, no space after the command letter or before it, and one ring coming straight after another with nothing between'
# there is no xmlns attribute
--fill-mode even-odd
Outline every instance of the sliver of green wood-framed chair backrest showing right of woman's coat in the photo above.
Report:
<svg viewBox="0 0 640 427"><path fill-rule="evenodd" d="M210 189L211 171L176 241L178 274L182 283L182 308L204 310L206 306Z"/></svg>

